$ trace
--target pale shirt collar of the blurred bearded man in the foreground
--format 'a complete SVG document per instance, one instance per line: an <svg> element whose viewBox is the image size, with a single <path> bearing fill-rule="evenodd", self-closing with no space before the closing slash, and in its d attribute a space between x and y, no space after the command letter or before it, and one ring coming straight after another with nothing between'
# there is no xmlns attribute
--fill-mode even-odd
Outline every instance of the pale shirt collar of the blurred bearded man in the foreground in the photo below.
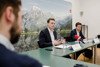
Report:
<svg viewBox="0 0 100 67"><path fill-rule="evenodd" d="M0 34L0 43L11 51L15 51L11 42L3 35Z"/></svg>

